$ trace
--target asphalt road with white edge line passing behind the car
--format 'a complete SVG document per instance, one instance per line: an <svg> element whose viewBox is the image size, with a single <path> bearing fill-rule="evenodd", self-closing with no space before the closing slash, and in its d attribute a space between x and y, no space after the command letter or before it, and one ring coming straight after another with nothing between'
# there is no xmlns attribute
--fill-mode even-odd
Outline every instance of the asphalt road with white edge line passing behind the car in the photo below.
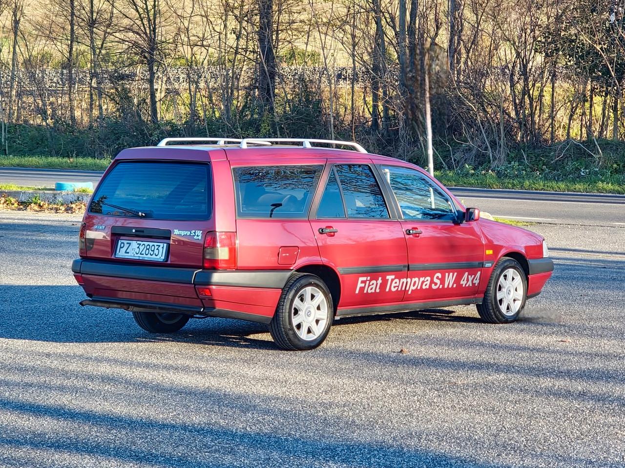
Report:
<svg viewBox="0 0 625 468"><path fill-rule="evenodd" d="M0 167L0 182L54 187L54 182L98 183L101 172ZM559 192L529 192L457 187L456 196L493 216L580 226L625 227L625 196Z"/></svg>

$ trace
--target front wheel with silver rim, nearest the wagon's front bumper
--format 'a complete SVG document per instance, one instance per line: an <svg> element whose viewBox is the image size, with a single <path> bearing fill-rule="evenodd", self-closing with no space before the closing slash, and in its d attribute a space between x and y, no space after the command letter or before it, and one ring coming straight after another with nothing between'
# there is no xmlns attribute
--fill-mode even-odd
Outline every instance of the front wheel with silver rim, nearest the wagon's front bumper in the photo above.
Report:
<svg viewBox="0 0 625 468"><path fill-rule="evenodd" d="M519 262L503 257L497 262L477 313L484 322L507 324L516 321L525 307L527 277Z"/></svg>

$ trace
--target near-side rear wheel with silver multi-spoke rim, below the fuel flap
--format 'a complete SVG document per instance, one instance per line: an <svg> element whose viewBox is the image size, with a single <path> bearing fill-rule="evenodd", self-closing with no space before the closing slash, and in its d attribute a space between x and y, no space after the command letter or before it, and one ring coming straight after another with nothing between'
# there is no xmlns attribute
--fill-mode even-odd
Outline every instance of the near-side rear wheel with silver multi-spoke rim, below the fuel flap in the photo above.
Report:
<svg viewBox="0 0 625 468"><path fill-rule="evenodd" d="M322 279L295 274L282 289L269 331L281 349L306 351L324 342L333 318L332 296Z"/></svg>

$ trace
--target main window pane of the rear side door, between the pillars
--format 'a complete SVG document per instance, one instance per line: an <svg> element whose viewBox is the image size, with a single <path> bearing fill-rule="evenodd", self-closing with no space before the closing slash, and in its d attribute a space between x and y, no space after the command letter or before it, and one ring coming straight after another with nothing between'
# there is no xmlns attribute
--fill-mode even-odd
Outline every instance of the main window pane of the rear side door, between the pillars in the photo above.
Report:
<svg viewBox="0 0 625 468"><path fill-rule="evenodd" d="M384 196L371 167L365 164L335 166L343 192L347 217L388 219Z"/></svg>

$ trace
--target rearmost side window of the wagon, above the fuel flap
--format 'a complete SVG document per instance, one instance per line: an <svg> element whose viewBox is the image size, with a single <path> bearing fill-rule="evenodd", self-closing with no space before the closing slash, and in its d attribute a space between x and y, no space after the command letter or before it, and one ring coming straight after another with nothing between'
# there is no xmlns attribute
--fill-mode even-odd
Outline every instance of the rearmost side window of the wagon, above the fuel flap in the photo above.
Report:
<svg viewBox="0 0 625 468"><path fill-rule="evenodd" d="M306 218L323 166L234 167L237 215Z"/></svg>

